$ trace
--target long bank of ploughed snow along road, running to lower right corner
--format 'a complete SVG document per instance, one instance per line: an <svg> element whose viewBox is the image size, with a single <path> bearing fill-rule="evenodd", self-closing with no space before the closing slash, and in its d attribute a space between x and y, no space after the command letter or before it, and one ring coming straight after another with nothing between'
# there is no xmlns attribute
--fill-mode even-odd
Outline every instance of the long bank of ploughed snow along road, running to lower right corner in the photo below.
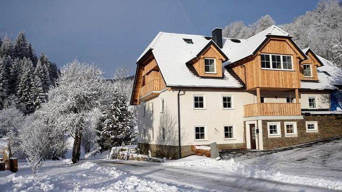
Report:
<svg viewBox="0 0 342 192"><path fill-rule="evenodd" d="M186 158L185 158L186 159ZM240 162L235 162L233 159L230 160L212 160L212 159L199 159L192 161L185 161L184 159L180 162L177 160L171 163L164 163L165 166L181 166L181 167L193 167L193 169L217 169L220 168L224 171L237 174L245 177L252 177L257 179L265 179L278 181L283 183L300 184L300 185L310 185L324 187L334 190L342 189L342 181L328 180L322 178L310 178L301 177L295 175L282 174L280 172L272 172L271 170L258 169L257 166L243 164Z"/></svg>

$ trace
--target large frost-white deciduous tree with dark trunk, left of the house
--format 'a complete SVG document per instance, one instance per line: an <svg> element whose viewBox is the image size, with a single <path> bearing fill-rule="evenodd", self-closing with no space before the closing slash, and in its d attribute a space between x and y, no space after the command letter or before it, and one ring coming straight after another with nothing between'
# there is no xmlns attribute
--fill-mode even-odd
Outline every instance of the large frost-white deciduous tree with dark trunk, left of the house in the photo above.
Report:
<svg viewBox="0 0 342 192"><path fill-rule="evenodd" d="M113 86L93 64L77 59L60 70L58 86L48 92L49 101L42 106L49 125L72 136L72 161L79 161L82 129L95 108L103 108L113 99Z"/></svg>

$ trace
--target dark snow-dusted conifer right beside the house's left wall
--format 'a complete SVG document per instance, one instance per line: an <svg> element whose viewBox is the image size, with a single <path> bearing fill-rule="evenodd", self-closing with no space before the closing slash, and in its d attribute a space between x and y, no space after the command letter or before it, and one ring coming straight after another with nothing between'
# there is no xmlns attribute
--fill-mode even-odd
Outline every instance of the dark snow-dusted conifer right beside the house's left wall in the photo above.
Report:
<svg viewBox="0 0 342 192"><path fill-rule="evenodd" d="M136 136L133 119L124 95L115 89L113 103L103 112L97 124L101 148L111 149L122 142L130 144Z"/></svg>

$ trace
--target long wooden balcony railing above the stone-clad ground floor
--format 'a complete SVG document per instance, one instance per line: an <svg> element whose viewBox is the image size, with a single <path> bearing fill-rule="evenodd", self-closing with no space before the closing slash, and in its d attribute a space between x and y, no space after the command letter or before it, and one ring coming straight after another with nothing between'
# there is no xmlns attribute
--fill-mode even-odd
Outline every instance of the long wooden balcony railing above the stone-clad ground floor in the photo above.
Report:
<svg viewBox="0 0 342 192"><path fill-rule="evenodd" d="M301 114L300 103L254 103L244 105L244 117Z"/></svg>

